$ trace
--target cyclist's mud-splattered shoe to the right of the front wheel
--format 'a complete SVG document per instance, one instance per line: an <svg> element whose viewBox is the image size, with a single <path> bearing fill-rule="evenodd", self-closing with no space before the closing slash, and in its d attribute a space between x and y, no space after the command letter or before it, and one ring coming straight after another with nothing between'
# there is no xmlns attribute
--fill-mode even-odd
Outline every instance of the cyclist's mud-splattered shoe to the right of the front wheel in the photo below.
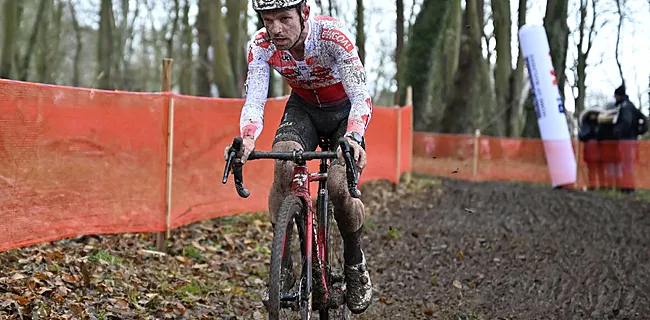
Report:
<svg viewBox="0 0 650 320"><path fill-rule="evenodd" d="M345 300L348 309L354 314L366 311L372 300L372 283L366 268L366 257L361 252L361 262L356 265L345 265Z"/></svg>

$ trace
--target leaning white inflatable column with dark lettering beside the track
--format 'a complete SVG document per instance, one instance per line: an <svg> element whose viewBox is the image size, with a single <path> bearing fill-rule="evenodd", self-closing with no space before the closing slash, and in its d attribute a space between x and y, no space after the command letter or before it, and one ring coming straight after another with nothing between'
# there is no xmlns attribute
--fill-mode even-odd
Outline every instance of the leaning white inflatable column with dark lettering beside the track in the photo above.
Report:
<svg viewBox="0 0 650 320"><path fill-rule="evenodd" d="M540 25L525 25L519 29L519 42L530 75L551 183L553 187L574 184L576 159L546 30Z"/></svg>

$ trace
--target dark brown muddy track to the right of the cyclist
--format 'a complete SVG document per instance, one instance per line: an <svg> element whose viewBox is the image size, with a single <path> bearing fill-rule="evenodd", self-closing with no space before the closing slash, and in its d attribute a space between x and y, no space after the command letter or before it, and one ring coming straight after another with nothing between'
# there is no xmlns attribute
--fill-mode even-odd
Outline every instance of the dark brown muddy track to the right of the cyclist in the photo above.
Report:
<svg viewBox="0 0 650 320"><path fill-rule="evenodd" d="M364 245L381 300L362 319L650 318L650 203L440 184L371 213Z"/></svg>

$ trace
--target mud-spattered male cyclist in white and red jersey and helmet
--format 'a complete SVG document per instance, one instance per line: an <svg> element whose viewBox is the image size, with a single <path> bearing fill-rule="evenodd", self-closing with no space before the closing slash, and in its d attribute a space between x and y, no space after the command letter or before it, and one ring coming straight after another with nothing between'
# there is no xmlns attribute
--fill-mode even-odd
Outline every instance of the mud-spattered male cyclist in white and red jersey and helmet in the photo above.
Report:
<svg viewBox="0 0 650 320"><path fill-rule="evenodd" d="M358 171L366 165L365 133L372 115L364 66L352 37L343 23L333 17L310 15L305 0L253 0L253 9L264 28L251 38L248 47L246 102L240 118L244 139L241 160L254 149L263 126L271 68L292 88L284 115L276 130L273 151L314 151L321 137L347 137L354 151ZM226 154L229 147L226 147ZM334 216L343 237L346 301L355 314L364 312L371 301L372 285L361 249L364 205L348 193L345 162L338 159L328 172L328 191ZM293 164L276 161L269 192L269 211L275 216L291 191ZM291 272L283 272L289 286Z"/></svg>

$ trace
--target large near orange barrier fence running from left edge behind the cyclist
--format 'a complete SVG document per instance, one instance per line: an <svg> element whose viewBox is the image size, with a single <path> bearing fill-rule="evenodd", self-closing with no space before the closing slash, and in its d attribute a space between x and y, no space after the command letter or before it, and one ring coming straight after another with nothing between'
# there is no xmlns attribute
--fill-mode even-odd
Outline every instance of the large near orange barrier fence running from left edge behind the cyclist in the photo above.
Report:
<svg viewBox="0 0 650 320"><path fill-rule="evenodd" d="M268 100L258 150L270 150L285 102ZM239 134L242 104L0 79L0 252L82 234L165 231L266 210L272 160L244 166L248 199L237 195L232 179L221 184L223 149ZM410 106L374 108L361 183L398 182L410 171L411 117ZM317 170L317 162L310 165Z"/></svg>

